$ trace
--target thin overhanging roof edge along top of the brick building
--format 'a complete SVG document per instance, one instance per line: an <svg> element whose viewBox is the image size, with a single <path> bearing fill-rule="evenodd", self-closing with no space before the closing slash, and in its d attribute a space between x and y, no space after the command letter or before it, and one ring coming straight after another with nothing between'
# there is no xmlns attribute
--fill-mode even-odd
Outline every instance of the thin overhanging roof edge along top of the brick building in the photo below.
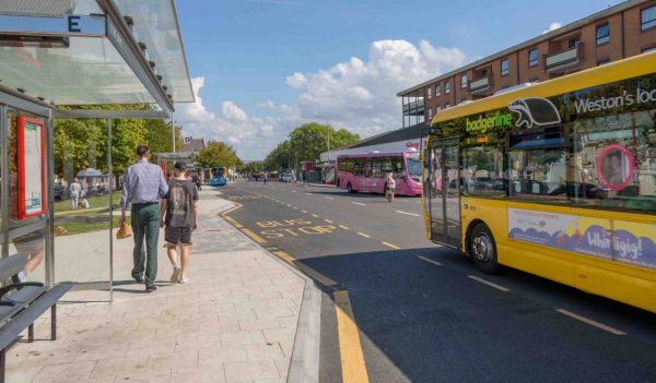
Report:
<svg viewBox="0 0 656 383"><path fill-rule="evenodd" d="M534 46L534 45L536 45L536 44L538 44L540 41L549 40L549 39L551 39L553 37L558 37L558 36L561 36L561 35L566 35L567 33L576 31L576 29L581 28L582 26L587 25L587 24L594 22L597 19L602 19L602 17L606 17L606 16L609 16L611 14L621 12L621 11L623 11L625 9L632 8L632 7L636 5L636 4L640 4L641 2L645 2L645 1L646 0L626 0L626 1L622 2L622 3L617 4L617 5L609 7L608 9L605 9L602 11L594 13L594 14L591 14L589 16L579 19L579 20L577 20L577 21L575 21L573 23L570 23L567 25L564 25L564 26L562 26L562 27L560 27L558 29L553 29L553 31L548 32L546 34L542 34L542 35L540 35L538 37L534 37L534 38L531 38L529 40L526 40L524 43L517 44L517 45L515 45L513 47L509 47L507 49L504 49L504 50L502 50L500 52L496 52L494 55L491 55L491 56L488 56L488 57L482 58L480 60L477 60L477 61L475 61L475 62L472 62L470 64L467 64L465 67L460 67L460 68L458 68L456 70L453 70L453 71L450 71L448 73L445 73L445 74L438 75L438 76L436 76L434 79L431 79L429 81L425 81L425 82L423 82L423 83L421 83L419 85L414 85L412 87L409 87L409 88L407 88L405 91L401 91L401 92L397 93L397 97L401 97L401 96L420 96L420 97L422 97L423 96L423 89L424 89L424 87L426 87L427 85L431 85L431 84L433 84L433 83L435 83L435 82L437 82L440 80L452 77L452 76L457 75L457 74L459 74L459 73L461 73L464 71L468 71L470 69L476 69L476 68L482 67L482 65L484 65L484 64L487 64L487 63L489 63L491 61L494 61L496 59L501 59L501 58L503 58L503 57L505 57L505 56L507 56L507 55L509 55L512 52L515 52L517 50L531 47L531 46ZM420 94L418 94L418 93L420 93Z"/></svg>

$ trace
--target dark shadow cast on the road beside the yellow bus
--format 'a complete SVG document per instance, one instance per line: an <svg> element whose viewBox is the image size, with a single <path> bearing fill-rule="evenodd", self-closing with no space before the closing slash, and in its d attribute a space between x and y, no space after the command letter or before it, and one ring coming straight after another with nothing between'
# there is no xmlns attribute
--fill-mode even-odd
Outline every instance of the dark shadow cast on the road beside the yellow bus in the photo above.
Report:
<svg viewBox="0 0 656 383"><path fill-rule="evenodd" d="M554 304L574 301L656 331L654 314L517 271L485 276L444 248L302 262L349 289L371 381L656 380L654 333L617 336L557 313ZM468 275L501 280L511 292Z"/></svg>

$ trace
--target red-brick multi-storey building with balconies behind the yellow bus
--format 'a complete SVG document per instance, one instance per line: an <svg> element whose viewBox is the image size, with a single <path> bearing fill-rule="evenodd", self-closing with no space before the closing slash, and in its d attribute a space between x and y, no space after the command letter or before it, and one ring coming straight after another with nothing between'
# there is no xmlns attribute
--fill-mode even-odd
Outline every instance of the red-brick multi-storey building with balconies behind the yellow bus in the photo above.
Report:
<svg viewBox="0 0 656 383"><path fill-rule="evenodd" d="M656 49L656 0L618 5L399 92L403 128L440 110Z"/></svg>

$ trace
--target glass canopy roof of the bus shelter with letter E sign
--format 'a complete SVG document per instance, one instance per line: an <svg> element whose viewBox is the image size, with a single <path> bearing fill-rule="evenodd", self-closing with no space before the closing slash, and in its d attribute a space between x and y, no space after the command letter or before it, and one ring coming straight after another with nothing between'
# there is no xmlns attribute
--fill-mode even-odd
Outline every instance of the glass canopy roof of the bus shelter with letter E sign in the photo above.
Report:
<svg viewBox="0 0 656 383"><path fill-rule="evenodd" d="M0 0L0 91L49 108L194 101L175 1Z"/></svg>

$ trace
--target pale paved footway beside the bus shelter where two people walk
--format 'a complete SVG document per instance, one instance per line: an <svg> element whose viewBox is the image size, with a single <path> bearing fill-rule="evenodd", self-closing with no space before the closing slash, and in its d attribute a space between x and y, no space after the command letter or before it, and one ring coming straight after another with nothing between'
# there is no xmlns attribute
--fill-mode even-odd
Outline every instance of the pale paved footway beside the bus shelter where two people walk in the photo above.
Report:
<svg viewBox="0 0 656 383"><path fill-rule="evenodd" d="M131 239L114 241L113 301L102 290L65 296L58 339L49 340L49 318L42 316L36 340L8 352L7 382L317 381L314 283L221 218L235 204L216 194L200 193L189 283L168 282L163 232L152 294L129 278ZM106 231L57 238L56 254L68 254L56 256L57 270L69 271L58 280L75 280L70 271L84 267L89 280L106 276L108 242ZM95 258L77 261L81 249Z"/></svg>

